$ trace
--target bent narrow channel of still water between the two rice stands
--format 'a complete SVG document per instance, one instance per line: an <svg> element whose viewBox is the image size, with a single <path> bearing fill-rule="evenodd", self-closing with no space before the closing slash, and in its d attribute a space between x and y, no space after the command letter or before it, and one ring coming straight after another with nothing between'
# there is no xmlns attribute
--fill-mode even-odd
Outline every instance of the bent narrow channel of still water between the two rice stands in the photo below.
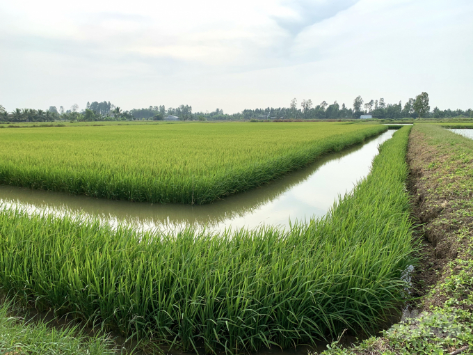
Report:
<svg viewBox="0 0 473 355"><path fill-rule="evenodd" d="M363 144L330 153L280 180L207 205L132 203L6 185L0 185L0 203L20 205L31 212L99 216L145 229L206 226L218 231L263 224L288 228L289 223L326 214L338 196L351 191L369 174L378 145L394 132L390 129Z"/></svg>

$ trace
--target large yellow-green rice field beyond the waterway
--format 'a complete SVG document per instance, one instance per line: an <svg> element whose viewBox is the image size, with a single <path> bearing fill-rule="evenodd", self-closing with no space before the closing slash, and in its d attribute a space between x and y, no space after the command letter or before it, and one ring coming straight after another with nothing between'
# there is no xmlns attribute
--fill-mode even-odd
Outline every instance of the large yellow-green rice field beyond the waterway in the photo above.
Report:
<svg viewBox="0 0 473 355"><path fill-rule="evenodd" d="M201 204L257 187L386 129L340 123L0 129L0 182L99 198Z"/></svg>

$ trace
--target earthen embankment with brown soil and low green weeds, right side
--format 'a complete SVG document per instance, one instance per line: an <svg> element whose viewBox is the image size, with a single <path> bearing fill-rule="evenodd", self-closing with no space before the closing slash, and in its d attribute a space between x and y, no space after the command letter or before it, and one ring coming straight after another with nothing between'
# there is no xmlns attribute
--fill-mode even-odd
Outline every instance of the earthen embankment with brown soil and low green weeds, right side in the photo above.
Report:
<svg viewBox="0 0 473 355"><path fill-rule="evenodd" d="M416 125L406 159L414 233L421 242L412 300L398 324L324 355L472 354L473 141Z"/></svg>

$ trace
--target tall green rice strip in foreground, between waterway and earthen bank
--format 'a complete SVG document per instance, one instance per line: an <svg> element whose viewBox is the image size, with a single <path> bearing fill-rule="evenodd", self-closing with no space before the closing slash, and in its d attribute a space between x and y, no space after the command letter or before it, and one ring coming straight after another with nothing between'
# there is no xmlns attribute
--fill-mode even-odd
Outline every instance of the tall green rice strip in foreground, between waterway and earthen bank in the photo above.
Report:
<svg viewBox="0 0 473 355"><path fill-rule="evenodd" d="M353 126L346 126L353 127ZM290 230L138 232L0 211L0 286L184 351L256 352L373 332L415 262L405 161L410 127L321 219Z"/></svg>

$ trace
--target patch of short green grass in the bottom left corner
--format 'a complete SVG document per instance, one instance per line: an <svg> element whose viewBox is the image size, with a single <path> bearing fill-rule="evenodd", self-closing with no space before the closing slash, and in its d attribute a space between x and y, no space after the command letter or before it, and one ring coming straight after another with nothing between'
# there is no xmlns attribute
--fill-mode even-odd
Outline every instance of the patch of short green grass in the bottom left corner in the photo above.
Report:
<svg viewBox="0 0 473 355"><path fill-rule="evenodd" d="M103 336L83 336L76 327L54 328L45 322L25 322L14 317L10 303L0 305L1 354L117 354L112 342Z"/></svg>

